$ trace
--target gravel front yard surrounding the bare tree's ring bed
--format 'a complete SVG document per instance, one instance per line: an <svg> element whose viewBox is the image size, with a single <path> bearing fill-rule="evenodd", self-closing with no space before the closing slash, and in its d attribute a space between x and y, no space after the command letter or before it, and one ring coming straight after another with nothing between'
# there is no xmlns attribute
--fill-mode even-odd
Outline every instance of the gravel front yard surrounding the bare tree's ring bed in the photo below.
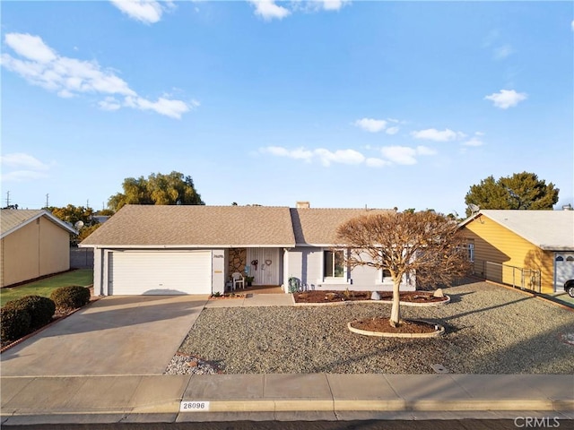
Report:
<svg viewBox="0 0 574 430"><path fill-rule="evenodd" d="M390 305L211 308L179 351L228 374L432 374L434 364L455 374L574 373L573 312L485 282L445 293L448 305L401 308L404 318L444 325L440 338L372 338L347 330L354 319L390 314Z"/></svg>

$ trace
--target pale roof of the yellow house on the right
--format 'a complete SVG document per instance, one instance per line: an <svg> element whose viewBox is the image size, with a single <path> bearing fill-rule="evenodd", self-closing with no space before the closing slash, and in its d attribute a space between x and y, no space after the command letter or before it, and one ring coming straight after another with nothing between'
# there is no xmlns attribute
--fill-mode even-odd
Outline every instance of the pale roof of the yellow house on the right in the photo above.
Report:
<svg viewBox="0 0 574 430"><path fill-rule="evenodd" d="M481 210L474 218L481 214L541 249L574 251L574 211Z"/></svg>

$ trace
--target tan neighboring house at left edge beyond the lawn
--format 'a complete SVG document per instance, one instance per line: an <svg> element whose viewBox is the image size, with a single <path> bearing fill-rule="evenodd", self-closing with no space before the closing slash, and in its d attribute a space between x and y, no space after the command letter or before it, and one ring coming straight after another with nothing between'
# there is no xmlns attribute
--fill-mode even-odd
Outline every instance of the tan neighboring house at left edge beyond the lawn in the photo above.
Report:
<svg viewBox="0 0 574 430"><path fill-rule="evenodd" d="M74 228L45 210L0 211L0 288L70 269Z"/></svg>

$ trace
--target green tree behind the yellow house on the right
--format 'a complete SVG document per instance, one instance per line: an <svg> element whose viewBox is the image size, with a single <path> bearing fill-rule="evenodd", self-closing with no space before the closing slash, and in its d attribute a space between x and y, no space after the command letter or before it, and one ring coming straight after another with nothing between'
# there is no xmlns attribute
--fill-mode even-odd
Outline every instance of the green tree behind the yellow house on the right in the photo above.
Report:
<svg viewBox="0 0 574 430"><path fill-rule="evenodd" d="M552 182L546 185L534 173L522 172L512 176L494 176L483 179L479 185L472 185L466 193L465 203L475 204L481 209L552 210L558 202L558 192ZM466 209L466 216L472 211Z"/></svg>

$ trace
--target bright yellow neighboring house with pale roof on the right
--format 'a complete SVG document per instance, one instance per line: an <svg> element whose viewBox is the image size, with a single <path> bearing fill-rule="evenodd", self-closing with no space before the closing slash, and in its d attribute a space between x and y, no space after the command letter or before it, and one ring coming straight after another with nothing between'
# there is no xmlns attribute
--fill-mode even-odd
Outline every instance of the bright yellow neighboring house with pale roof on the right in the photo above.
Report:
<svg viewBox="0 0 574 430"><path fill-rule="evenodd" d="M574 211L482 210L460 227L487 280L554 293L574 279Z"/></svg>

